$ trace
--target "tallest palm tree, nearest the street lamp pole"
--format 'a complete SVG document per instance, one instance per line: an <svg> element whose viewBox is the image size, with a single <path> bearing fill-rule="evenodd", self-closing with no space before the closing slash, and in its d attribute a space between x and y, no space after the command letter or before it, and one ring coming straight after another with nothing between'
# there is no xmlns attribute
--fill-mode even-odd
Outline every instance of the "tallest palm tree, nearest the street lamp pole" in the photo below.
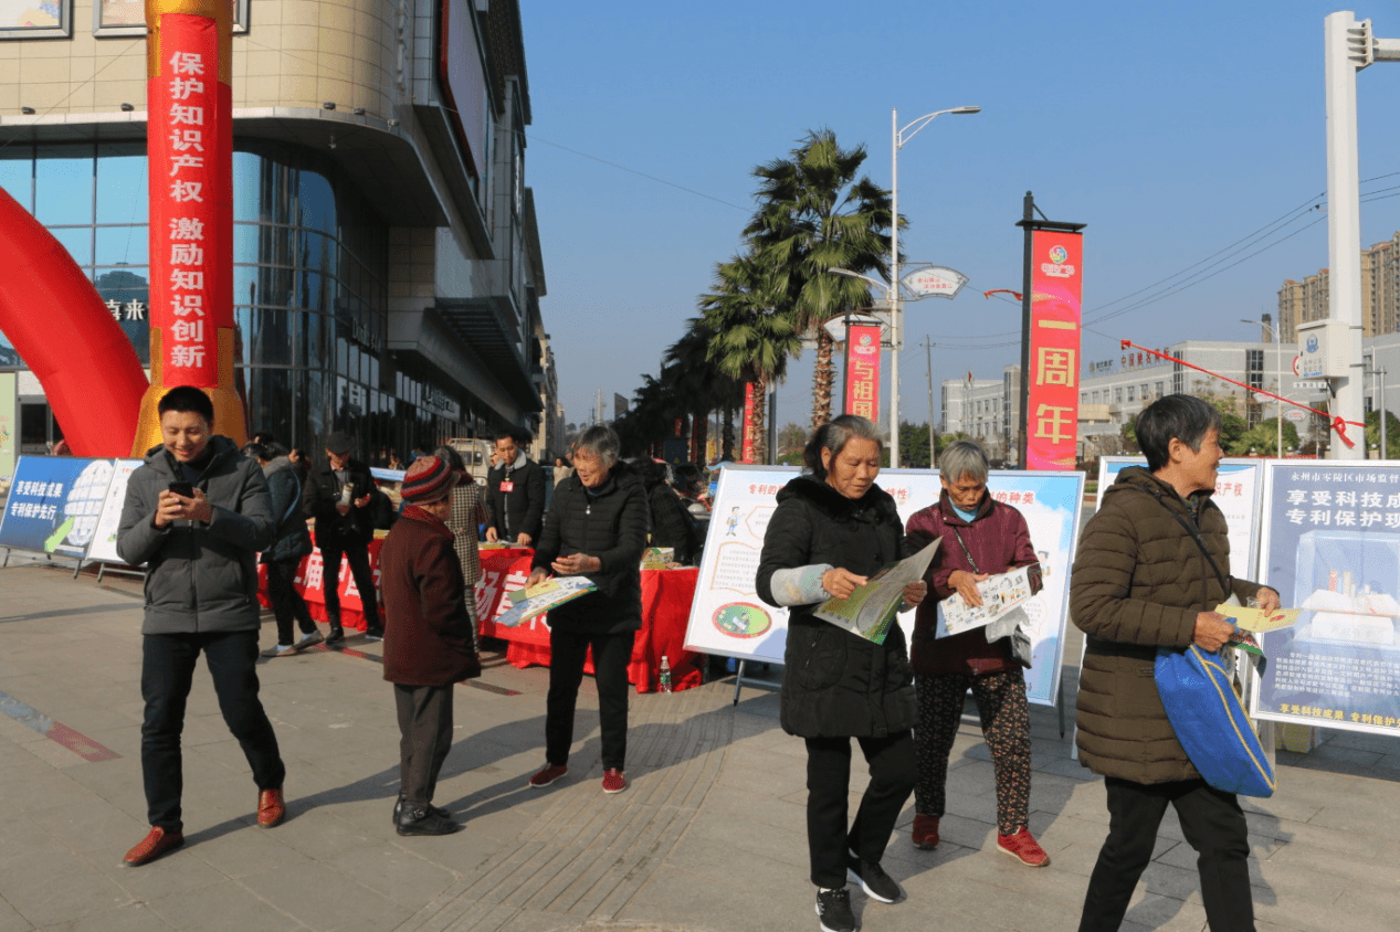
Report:
<svg viewBox="0 0 1400 932"><path fill-rule="evenodd" d="M816 336L813 428L832 418L836 381L836 344L822 325L871 306L860 278L829 270L889 278L890 193L869 176L857 178L864 161L865 146L841 148L834 132L820 129L808 133L791 158L753 169L759 209L743 232L774 270L780 308L795 315L799 333Z"/></svg>

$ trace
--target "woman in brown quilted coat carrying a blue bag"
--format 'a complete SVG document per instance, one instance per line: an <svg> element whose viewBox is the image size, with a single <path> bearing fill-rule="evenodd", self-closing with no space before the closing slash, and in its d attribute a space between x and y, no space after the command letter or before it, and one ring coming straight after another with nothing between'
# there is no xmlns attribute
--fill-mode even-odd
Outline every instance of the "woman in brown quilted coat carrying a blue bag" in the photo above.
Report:
<svg viewBox="0 0 1400 932"><path fill-rule="evenodd" d="M1161 648L1218 651L1229 641L1235 626L1212 609L1231 595L1278 607L1273 589L1229 575L1225 515L1211 501L1219 428L1219 411L1189 395L1144 409L1147 469L1119 473L1079 536L1070 581L1070 614L1085 633L1077 744L1085 767L1103 774L1109 802L1081 932L1121 925L1168 803L1198 855L1211 932L1254 928L1245 813L1191 765L1152 676Z"/></svg>

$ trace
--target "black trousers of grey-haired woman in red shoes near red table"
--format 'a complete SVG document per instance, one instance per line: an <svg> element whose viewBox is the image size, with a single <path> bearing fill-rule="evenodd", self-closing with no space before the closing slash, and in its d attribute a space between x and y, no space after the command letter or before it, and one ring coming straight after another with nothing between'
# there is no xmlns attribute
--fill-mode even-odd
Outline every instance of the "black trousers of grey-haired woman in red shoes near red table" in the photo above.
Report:
<svg viewBox="0 0 1400 932"><path fill-rule="evenodd" d="M574 743L574 707L584 682L584 661L594 648L603 770L627 768L627 663L636 631L575 634L549 631L549 696L545 700L545 758L563 767Z"/></svg>

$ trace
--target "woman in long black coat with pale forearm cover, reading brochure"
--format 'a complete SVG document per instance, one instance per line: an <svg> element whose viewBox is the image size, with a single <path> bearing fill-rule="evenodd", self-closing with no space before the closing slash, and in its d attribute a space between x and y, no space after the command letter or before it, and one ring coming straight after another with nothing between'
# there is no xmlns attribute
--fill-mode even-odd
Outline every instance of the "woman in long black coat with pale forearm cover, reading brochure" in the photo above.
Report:
<svg viewBox="0 0 1400 932"><path fill-rule="evenodd" d="M902 894L879 862L914 788L914 690L897 624L872 644L813 612L899 560L903 526L895 500L875 484L881 437L864 417L844 414L818 428L804 463L808 473L778 493L756 584L764 602L788 609L783 730L806 740L816 912L826 932L846 932L855 928L847 879L882 903ZM918 605L925 592L924 582L911 584L904 602ZM871 781L847 828L853 737Z"/></svg>

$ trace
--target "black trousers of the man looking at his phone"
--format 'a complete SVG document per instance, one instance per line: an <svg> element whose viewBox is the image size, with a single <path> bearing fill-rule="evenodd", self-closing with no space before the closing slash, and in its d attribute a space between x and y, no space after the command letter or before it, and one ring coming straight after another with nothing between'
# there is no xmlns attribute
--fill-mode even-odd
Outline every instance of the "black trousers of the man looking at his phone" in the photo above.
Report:
<svg viewBox="0 0 1400 932"><path fill-rule="evenodd" d="M280 789L287 775L277 751L277 735L258 701L258 631L207 634L147 634L141 638L141 775L146 810L153 826L182 831L181 795L185 789L181 732L185 704L203 652L214 679L218 711L238 739L258 789Z"/></svg>

